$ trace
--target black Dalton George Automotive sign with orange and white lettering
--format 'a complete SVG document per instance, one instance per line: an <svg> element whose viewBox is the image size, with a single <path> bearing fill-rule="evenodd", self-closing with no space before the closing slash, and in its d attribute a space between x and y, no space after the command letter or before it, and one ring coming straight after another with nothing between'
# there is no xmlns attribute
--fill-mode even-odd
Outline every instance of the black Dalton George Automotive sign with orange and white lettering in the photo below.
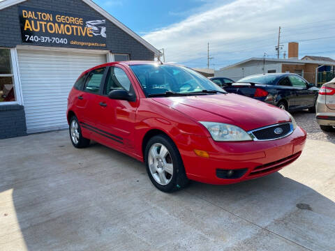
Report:
<svg viewBox="0 0 335 251"><path fill-rule="evenodd" d="M23 43L106 47L106 20L20 6L18 10Z"/></svg>

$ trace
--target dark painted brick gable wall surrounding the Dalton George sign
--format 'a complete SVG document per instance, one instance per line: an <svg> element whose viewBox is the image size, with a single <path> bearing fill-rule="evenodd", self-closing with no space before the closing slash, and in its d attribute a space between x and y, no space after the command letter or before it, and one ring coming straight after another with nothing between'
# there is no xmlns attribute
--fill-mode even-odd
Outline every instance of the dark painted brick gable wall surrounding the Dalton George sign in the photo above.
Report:
<svg viewBox="0 0 335 251"><path fill-rule="evenodd" d="M89 7L81 0L28 0L15 6L10 6L0 10L0 47L15 47L23 45L21 39L20 23L17 6L26 6L31 8L40 8L45 10L54 10L63 13L71 13L82 16L93 16L105 19L96 10ZM131 60L154 60L154 52L147 49L142 43L137 42L135 38L119 29L112 22L106 20L107 47L104 50L110 50L113 53L130 54ZM35 44L45 46L44 43ZM50 46L50 45L48 45ZM75 45L53 44L52 46L75 47ZM86 49L99 49L101 47L82 47Z"/></svg>

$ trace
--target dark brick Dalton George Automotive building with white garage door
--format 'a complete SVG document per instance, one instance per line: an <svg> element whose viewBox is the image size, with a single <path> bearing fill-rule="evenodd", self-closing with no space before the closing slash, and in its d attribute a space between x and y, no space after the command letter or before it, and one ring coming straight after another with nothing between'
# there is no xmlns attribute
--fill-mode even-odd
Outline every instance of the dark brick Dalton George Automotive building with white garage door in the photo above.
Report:
<svg viewBox="0 0 335 251"><path fill-rule="evenodd" d="M159 54L91 0L0 2L0 139L66 128L82 71Z"/></svg>

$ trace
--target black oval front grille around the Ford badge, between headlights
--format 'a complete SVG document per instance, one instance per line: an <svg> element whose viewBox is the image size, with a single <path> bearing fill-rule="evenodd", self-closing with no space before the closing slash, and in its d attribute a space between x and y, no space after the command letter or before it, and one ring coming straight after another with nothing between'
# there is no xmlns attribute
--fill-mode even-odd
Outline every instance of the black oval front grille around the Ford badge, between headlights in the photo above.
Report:
<svg viewBox="0 0 335 251"><path fill-rule="evenodd" d="M282 132L275 133L275 130L280 130L277 128L281 128ZM290 123L282 123L274 126L269 126L267 128L262 128L258 130L256 129L253 130L251 133L258 140L269 140L284 137L285 135L288 135L290 132L292 132Z"/></svg>

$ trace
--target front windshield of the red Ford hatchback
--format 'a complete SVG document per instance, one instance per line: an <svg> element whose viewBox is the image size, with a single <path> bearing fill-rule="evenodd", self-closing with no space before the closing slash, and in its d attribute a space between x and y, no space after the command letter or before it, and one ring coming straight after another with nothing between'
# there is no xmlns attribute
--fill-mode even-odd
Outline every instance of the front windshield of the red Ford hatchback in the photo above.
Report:
<svg viewBox="0 0 335 251"><path fill-rule="evenodd" d="M183 66L143 64L130 66L147 96L225 93L207 77ZM206 92L211 91L211 92Z"/></svg>

